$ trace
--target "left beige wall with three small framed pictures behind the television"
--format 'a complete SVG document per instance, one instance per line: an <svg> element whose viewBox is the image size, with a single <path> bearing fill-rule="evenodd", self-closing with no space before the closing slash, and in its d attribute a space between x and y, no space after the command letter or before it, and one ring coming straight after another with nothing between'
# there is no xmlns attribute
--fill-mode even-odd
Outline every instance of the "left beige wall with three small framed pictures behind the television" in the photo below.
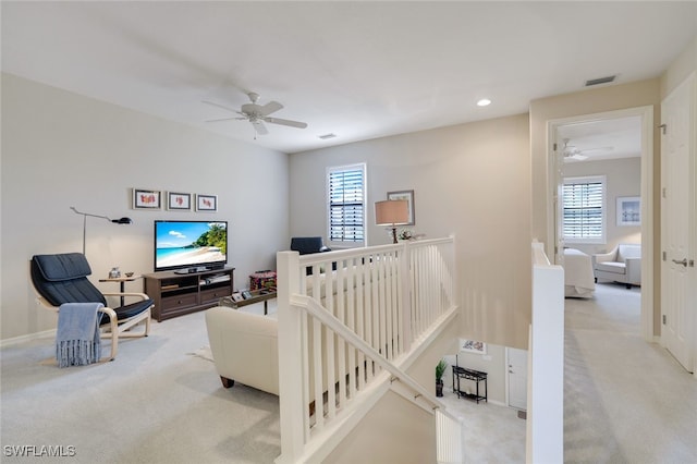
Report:
<svg viewBox="0 0 697 464"><path fill-rule="evenodd" d="M288 155L8 74L1 167L2 340L56 328L56 316L34 303L28 259L82 251L83 218L70 206L134 220L87 220L91 281L107 292L118 289L97 281L113 266L152 271L155 219L228 220L237 286L288 247ZM215 194L219 211L136 211L131 187Z"/></svg>

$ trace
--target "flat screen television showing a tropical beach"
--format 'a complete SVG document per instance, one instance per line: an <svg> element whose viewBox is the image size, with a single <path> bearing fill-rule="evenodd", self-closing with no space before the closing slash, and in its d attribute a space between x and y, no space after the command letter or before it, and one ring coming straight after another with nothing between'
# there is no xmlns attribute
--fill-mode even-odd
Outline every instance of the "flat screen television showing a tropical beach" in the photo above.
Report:
<svg viewBox="0 0 697 464"><path fill-rule="evenodd" d="M220 269L228 262L228 221L155 221L155 271Z"/></svg>

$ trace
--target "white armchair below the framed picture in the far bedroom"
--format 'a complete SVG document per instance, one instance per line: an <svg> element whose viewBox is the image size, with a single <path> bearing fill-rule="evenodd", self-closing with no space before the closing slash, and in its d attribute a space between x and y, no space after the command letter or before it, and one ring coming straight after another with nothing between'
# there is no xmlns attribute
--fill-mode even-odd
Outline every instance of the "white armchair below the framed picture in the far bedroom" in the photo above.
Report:
<svg viewBox="0 0 697 464"><path fill-rule="evenodd" d="M592 271L598 279L621 282L631 289L641 285L641 245L638 243L621 243L610 253L591 256Z"/></svg>

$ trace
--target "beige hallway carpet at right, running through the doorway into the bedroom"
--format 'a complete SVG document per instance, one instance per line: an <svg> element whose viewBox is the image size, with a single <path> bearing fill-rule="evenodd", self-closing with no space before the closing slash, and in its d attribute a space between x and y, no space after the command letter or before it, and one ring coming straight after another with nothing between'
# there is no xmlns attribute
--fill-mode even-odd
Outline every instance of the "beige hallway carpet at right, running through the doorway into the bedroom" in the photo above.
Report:
<svg viewBox="0 0 697 464"><path fill-rule="evenodd" d="M697 463L697 380L639 335L640 290L566 300L564 461Z"/></svg>

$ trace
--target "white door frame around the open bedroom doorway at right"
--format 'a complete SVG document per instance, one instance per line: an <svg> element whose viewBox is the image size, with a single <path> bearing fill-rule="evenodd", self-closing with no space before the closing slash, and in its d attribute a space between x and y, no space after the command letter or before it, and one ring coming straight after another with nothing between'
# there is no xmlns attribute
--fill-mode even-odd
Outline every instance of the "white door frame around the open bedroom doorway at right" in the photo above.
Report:
<svg viewBox="0 0 697 464"><path fill-rule="evenodd" d="M653 278L653 106L627 108L615 111L604 111L591 114L552 119L547 121L547 157L548 157L548 195L547 195L547 233L551 240L548 246L548 256L554 256L557 246L557 220L558 212L555 196L558 185L562 182L559 170L559 160L554 151L557 130L562 125L595 122L606 119L640 117L641 119L641 327L640 332L647 342L657 342L653 334L655 326L655 278Z"/></svg>

